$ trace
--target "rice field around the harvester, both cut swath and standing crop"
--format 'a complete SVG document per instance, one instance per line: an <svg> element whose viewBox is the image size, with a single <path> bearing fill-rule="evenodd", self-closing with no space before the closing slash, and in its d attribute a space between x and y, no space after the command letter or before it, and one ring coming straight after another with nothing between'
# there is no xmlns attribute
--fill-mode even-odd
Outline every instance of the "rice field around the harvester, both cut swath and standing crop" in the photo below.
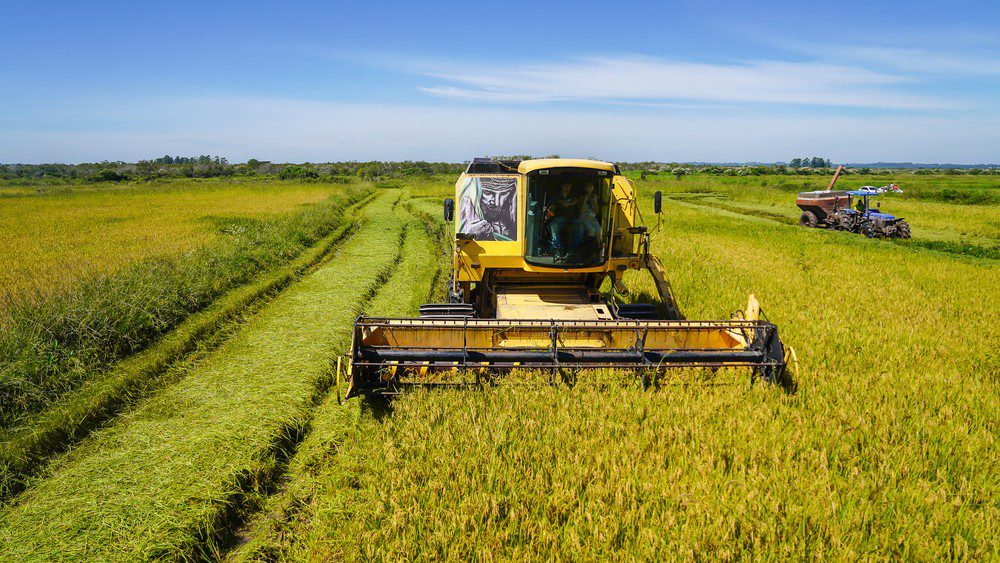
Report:
<svg viewBox="0 0 1000 563"><path fill-rule="evenodd" d="M794 394L735 372L340 404L354 316L414 314L449 267L453 178L383 183L314 266L53 453L0 508L0 559L1000 557L1000 268L955 252L997 245L1000 206L919 180L883 207L950 246L789 224L799 187L769 178L639 182L648 223L668 196L653 251L684 313L756 294ZM951 187L996 188L975 181Z"/></svg>

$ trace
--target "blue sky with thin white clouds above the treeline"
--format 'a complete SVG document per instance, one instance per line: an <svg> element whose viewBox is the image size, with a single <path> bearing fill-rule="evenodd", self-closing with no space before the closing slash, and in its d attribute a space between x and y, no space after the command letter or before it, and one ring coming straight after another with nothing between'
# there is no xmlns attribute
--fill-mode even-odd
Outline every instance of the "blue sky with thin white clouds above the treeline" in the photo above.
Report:
<svg viewBox="0 0 1000 563"><path fill-rule="evenodd" d="M3 0L0 162L1000 162L1000 2Z"/></svg>

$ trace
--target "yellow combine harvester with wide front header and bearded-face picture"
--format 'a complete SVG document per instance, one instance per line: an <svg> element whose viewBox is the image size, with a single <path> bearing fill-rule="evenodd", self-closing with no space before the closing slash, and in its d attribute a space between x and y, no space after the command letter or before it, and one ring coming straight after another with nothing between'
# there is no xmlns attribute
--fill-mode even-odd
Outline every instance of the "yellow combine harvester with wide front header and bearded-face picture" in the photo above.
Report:
<svg viewBox="0 0 1000 563"><path fill-rule="evenodd" d="M658 218L661 202L657 192ZM753 295L729 320L683 318L649 253L635 186L615 164L476 158L444 215L455 229L448 302L421 306L419 318L358 317L348 397L501 374L572 382L592 369L649 381L672 368L747 367L753 378L791 382L794 352ZM629 270L651 274L659 306L618 302Z"/></svg>

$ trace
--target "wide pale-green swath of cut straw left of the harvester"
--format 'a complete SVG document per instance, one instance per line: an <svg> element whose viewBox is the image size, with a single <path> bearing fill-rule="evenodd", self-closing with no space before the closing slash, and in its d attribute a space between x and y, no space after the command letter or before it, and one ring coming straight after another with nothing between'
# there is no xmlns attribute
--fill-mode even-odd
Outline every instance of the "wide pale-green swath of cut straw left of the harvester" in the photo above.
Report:
<svg viewBox="0 0 1000 563"><path fill-rule="evenodd" d="M382 192L335 259L54 463L0 513L0 558L217 555L234 505L266 487L307 427L359 303L397 268L398 197Z"/></svg>

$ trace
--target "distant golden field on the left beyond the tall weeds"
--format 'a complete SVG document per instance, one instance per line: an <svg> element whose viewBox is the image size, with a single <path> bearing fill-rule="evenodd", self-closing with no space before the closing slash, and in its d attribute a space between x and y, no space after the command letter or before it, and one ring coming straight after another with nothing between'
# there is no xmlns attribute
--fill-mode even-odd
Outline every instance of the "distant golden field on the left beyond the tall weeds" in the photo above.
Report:
<svg viewBox="0 0 1000 563"><path fill-rule="evenodd" d="M224 238L233 219L273 219L336 184L178 180L0 192L0 292L47 294L143 258Z"/></svg>

